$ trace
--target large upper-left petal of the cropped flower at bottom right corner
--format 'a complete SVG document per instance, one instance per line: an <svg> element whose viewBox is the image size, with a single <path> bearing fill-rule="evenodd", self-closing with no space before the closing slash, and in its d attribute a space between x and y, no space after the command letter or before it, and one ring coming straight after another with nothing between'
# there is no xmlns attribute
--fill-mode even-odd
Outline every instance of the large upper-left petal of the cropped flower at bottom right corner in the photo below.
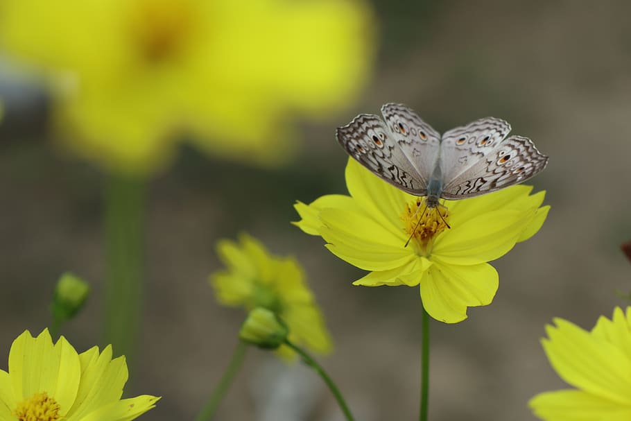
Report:
<svg viewBox="0 0 631 421"><path fill-rule="evenodd" d="M631 360L618 347L568 322L554 319L542 341L551 366L568 384L631 405Z"/></svg>

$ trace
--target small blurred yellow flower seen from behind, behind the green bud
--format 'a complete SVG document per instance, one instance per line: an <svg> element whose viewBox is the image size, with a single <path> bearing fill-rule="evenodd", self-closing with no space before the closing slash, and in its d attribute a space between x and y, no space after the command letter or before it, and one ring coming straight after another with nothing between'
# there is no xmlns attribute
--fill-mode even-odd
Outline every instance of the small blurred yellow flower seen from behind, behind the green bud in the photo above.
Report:
<svg viewBox="0 0 631 421"><path fill-rule="evenodd" d="M219 241L217 250L227 269L211 275L210 282L221 304L273 311L287 324L289 341L315 352L331 350L324 318L295 259L270 255L263 244L246 234L239 243ZM286 345L278 352L294 355Z"/></svg>

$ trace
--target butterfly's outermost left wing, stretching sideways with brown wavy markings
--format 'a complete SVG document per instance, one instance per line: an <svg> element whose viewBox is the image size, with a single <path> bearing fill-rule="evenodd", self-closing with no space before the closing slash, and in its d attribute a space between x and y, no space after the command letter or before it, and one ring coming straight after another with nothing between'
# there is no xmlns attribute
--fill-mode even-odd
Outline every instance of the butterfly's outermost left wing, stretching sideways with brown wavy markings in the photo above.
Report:
<svg viewBox="0 0 631 421"><path fill-rule="evenodd" d="M381 179L415 196L425 196L425 180L376 115L358 115L338 128L336 137L349 155Z"/></svg>

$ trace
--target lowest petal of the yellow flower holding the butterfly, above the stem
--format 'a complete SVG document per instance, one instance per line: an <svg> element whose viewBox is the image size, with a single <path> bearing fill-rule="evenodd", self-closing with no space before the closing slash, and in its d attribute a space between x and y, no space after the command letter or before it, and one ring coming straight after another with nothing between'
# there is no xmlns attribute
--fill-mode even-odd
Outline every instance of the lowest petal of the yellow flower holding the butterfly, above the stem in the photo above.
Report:
<svg viewBox="0 0 631 421"><path fill-rule="evenodd" d="M421 279L421 300L430 316L444 323L467 318L467 307L490 304L499 275L490 264L456 266L438 260Z"/></svg>

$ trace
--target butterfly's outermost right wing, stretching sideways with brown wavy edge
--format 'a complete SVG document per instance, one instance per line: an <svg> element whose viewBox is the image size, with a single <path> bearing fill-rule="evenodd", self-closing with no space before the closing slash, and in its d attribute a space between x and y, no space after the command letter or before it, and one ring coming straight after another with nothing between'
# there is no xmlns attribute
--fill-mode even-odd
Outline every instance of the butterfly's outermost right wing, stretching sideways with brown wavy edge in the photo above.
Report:
<svg viewBox="0 0 631 421"><path fill-rule="evenodd" d="M533 141L511 136L457 178L447 182L442 197L464 199L491 193L534 177L548 164Z"/></svg>

